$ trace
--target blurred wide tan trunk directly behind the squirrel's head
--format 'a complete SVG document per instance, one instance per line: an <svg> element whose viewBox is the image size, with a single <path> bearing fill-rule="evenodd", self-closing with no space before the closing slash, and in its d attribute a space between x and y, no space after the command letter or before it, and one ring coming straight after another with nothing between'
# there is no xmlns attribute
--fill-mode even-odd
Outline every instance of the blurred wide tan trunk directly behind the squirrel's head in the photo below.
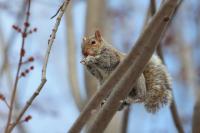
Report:
<svg viewBox="0 0 200 133"><path fill-rule="evenodd" d="M87 0L85 35L90 35L95 29L104 29L105 6L105 0ZM104 30L102 32L105 33ZM97 90L97 80L87 70L84 70L84 75L89 99Z"/></svg>

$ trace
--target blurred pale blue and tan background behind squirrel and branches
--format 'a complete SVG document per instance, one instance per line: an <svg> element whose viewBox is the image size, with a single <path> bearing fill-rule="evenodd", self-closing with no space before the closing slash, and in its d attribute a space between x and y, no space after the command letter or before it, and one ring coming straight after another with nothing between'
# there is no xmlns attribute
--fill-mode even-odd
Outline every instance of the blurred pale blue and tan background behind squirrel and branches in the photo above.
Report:
<svg viewBox="0 0 200 133"><path fill-rule="evenodd" d="M26 39L26 57L34 70L20 78L15 111L25 105L41 81L47 41L55 23L50 19L62 0L32 0L30 27L37 32ZM162 0L156 0L159 9ZM80 64L81 41L100 29L105 40L128 53L146 25L150 0L72 0L63 17L47 68L47 83L15 133L64 133L96 91L96 80ZM12 26L23 26L25 0L0 0L0 93L9 101L21 47L21 35ZM192 132L193 114L200 108L200 1L184 1L161 41L166 66L173 78L174 99L186 133ZM197 113L196 113L197 112ZM8 108L0 101L0 132L4 131ZM126 119L128 118L128 119ZM195 116L194 118L198 118ZM169 107L149 114L142 104L118 112L106 133L176 133Z"/></svg>

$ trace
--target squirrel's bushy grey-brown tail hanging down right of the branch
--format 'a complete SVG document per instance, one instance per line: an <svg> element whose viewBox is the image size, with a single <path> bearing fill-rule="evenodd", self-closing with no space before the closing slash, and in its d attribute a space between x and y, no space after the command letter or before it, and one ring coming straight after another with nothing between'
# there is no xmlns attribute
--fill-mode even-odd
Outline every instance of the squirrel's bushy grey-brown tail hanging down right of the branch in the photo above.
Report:
<svg viewBox="0 0 200 133"><path fill-rule="evenodd" d="M144 70L146 98L144 106L148 112L155 113L172 101L171 78L157 56L153 56Z"/></svg>

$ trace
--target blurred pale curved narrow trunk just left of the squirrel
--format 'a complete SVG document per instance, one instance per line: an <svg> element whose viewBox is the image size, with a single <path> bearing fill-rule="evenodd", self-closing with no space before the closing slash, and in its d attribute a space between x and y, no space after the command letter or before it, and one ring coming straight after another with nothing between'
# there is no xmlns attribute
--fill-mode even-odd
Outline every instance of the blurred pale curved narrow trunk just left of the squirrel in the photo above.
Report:
<svg viewBox="0 0 200 133"><path fill-rule="evenodd" d="M85 100L81 97L80 94L80 83L77 77L77 70L76 70L76 42L75 42L75 30L73 25L73 17L72 17L72 5L73 2L69 4L68 11L65 14L66 18L66 27L67 27L67 66L68 66L68 79L71 85L71 92L74 97L76 106L78 107L79 111L82 110L83 106L85 105Z"/></svg>

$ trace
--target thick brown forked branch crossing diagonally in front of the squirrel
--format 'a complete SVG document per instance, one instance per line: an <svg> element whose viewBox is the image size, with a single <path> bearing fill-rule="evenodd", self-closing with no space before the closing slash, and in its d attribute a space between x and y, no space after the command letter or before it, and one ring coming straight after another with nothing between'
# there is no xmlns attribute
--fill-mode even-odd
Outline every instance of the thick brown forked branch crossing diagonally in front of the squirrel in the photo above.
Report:
<svg viewBox="0 0 200 133"><path fill-rule="evenodd" d="M74 125L69 130L69 133L80 132L86 121L92 116L92 112L98 107L98 105L100 105L101 101L111 92L112 88L120 80L122 80L123 82L121 81L120 85L118 84L118 87L115 87L115 91L110 95L108 102L106 102L103 109L100 110L100 113L97 117L97 121L92 126L90 132L93 132L94 130L95 132L102 132L105 129L106 125L109 123L110 119L116 112L118 105L120 104L120 100L128 95L130 89L128 88L127 84L125 84L125 77L123 79L121 79L121 77L127 71L129 66L133 64L132 67L128 70L128 72L131 73L132 71L135 72L135 74L132 74L130 78L131 80L128 79L127 82L131 84L137 79L136 76L139 76L139 74L142 71L141 68L144 67L145 63L147 63L148 59L152 55L156 44L159 42L163 31L165 31L168 25L169 20L172 19L172 14L174 13L174 10L178 6L179 2L179 0L168 0L163 5L161 10L153 17L152 21L145 28L135 47L124 59L123 63L120 64L119 67L117 67L117 69L111 74L109 79L103 84L101 89L99 89L99 91L96 92L96 94L91 98L91 100L86 105L78 119L75 121ZM152 32L155 34L152 34ZM145 52L146 54L143 54L142 52ZM143 62L139 62L139 60L143 60ZM137 70L138 67L139 70ZM134 68L137 69L133 71ZM126 73L126 78L130 76L128 72ZM107 112L106 110L109 111Z"/></svg>

